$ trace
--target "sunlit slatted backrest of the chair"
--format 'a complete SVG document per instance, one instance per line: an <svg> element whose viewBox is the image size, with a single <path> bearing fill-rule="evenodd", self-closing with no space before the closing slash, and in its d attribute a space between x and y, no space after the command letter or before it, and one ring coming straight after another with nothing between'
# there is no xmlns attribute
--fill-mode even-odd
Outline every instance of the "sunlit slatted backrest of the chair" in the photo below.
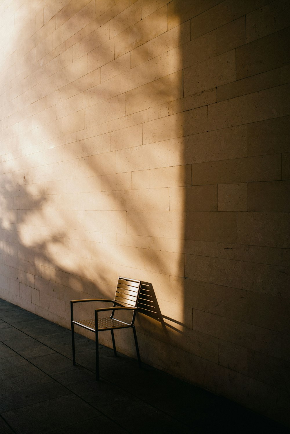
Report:
<svg viewBox="0 0 290 434"><path fill-rule="evenodd" d="M127 279L119 277L114 301L120 303L124 307L136 307L140 293L142 280ZM135 318L136 310L133 311L133 319Z"/></svg>

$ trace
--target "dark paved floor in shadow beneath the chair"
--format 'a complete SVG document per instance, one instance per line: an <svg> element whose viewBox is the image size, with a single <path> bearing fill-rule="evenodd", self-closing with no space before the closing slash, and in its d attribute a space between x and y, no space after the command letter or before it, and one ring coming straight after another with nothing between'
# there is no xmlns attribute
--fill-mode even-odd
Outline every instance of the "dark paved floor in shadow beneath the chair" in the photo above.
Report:
<svg viewBox="0 0 290 434"><path fill-rule="evenodd" d="M0 432L287 433L286 428L0 299ZM142 355L141 355L142 358Z"/></svg>

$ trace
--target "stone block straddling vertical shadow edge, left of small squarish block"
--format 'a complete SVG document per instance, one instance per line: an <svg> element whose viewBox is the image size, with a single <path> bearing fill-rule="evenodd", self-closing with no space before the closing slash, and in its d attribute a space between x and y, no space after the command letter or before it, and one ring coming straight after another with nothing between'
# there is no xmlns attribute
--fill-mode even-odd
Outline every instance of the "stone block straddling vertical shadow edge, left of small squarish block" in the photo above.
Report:
<svg viewBox="0 0 290 434"><path fill-rule="evenodd" d="M217 186L171 187L171 211L217 211Z"/></svg>

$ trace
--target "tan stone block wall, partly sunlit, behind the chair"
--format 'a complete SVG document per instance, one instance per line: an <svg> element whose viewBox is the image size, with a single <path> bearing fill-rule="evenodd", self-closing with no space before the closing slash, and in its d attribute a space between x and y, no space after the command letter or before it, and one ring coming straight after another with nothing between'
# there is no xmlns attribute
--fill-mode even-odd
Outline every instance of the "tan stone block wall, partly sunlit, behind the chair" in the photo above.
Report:
<svg viewBox="0 0 290 434"><path fill-rule="evenodd" d="M0 1L0 296L69 328L151 283L143 361L286 424L289 12Z"/></svg>

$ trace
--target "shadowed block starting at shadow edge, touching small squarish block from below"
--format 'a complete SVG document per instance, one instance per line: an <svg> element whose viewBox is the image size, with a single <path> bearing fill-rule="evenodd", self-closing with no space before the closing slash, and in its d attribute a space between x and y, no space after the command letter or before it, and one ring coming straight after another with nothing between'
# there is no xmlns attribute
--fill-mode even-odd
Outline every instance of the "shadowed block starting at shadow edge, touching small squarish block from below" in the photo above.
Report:
<svg viewBox="0 0 290 434"><path fill-rule="evenodd" d="M234 212L185 212L185 238L187 240L236 242L237 217Z"/></svg>

